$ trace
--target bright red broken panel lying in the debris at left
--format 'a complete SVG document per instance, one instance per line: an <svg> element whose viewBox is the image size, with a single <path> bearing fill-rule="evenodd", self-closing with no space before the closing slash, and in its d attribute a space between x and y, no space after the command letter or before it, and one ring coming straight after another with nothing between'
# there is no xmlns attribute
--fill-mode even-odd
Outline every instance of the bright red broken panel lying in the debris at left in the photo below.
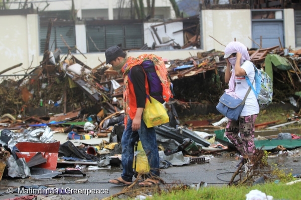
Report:
<svg viewBox="0 0 301 200"><path fill-rule="evenodd" d="M38 152L41 152L44 158L47 158L47 161L42 164L36 165L36 167L46 168L49 170L56 170L60 142L53 143L36 143L36 142L18 142L16 147L20 152L16 152L19 158L24 157L26 162Z"/></svg>

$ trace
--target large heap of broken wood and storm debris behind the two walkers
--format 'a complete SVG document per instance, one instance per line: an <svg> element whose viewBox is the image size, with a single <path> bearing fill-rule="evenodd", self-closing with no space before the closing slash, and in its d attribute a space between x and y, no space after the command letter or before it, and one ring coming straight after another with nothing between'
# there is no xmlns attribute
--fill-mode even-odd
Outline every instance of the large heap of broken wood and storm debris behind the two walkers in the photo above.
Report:
<svg viewBox="0 0 301 200"><path fill-rule="evenodd" d="M271 75L274 80L274 100L279 98L279 101L282 101L286 96L299 95L298 91L301 89L301 86L297 84L301 81L299 51L284 52L284 49L274 46L267 49L249 50L249 53L257 67L269 67L273 70L274 73ZM187 109L189 102L192 101L216 103L220 93L227 87L223 81L225 64L223 53L215 50L200 52L197 56L191 56L185 60L166 60L174 83L176 100L166 104L170 123L156 130L158 135L163 136L162 146L166 142L165 139L175 140L173 148L163 148L165 155L182 152L190 156L198 156L201 152L206 152L206 147L213 143L207 140L212 135L204 138L199 135L195 136L196 133L186 127L177 128L180 121L174 104ZM61 152L65 163L72 152L71 157L73 155L84 161L89 160L90 163L92 161L98 166L110 163L112 159L106 154L120 154L120 146L116 144L119 143L120 133L123 130L123 80L116 71L104 64L90 68L71 53L61 60L59 53L45 51L41 65L26 74L18 81L5 79L0 83L1 136L8 136L5 140L1 139L4 157L8 157L7 151L15 156L20 155L17 152L15 154L14 148L27 148L24 142L42 143L40 147L37 145L39 148L34 151L32 157L23 160L26 163L31 161L34 165L43 165L48 162L43 159L44 155L35 157L40 151L55 154L53 160L57 159L58 153ZM282 95L285 95L285 98ZM114 137L112 133L118 128L119 135L115 133ZM179 136L179 131L181 131L181 136ZM183 132L187 132L187 135L184 136ZM57 133L62 133L66 142L56 143L53 135ZM187 138L190 139L186 140ZM85 140L85 142L75 145L71 140ZM49 146L50 143L55 146ZM191 144L188 145L191 149L185 149L187 144ZM98 150L103 150L105 145L111 149L100 151L101 155L96 154ZM220 146L218 147L220 149ZM45 148L51 150L45 151ZM88 148L93 153L89 154ZM207 151L217 152L220 151L219 149L207 149ZM222 148L222 150L225 149ZM23 151L27 152L28 149ZM34 158L38 161L31 160ZM56 166L50 167L49 169L55 170ZM32 173L29 168L17 175L27 176Z"/></svg>

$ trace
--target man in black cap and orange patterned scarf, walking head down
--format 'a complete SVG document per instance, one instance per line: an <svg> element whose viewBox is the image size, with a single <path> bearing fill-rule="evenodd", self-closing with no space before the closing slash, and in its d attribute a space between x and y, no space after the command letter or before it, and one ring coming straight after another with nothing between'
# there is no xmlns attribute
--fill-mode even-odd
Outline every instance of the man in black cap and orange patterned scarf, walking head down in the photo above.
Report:
<svg viewBox="0 0 301 200"><path fill-rule="evenodd" d="M133 158L135 142L141 140L147 156L149 172L140 186L159 184L159 151L154 127L147 128L142 113L145 107L148 83L142 68L141 59L127 57L120 46L111 46L105 51L106 64L111 64L124 78L123 109L125 129L122 134L122 174L121 177L109 180L112 184L130 185L132 183ZM141 58L141 57L140 57Z"/></svg>

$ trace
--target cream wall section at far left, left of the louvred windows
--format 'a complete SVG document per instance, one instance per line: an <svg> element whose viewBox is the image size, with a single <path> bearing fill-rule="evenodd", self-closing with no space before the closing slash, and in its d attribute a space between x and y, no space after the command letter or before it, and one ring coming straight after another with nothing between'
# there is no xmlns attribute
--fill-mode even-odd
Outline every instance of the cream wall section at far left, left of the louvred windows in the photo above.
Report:
<svg viewBox="0 0 301 200"><path fill-rule="evenodd" d="M0 71L19 63L23 68L29 68L31 63L33 67L39 65L38 24L36 14L0 16ZM21 67L5 74L20 71Z"/></svg>

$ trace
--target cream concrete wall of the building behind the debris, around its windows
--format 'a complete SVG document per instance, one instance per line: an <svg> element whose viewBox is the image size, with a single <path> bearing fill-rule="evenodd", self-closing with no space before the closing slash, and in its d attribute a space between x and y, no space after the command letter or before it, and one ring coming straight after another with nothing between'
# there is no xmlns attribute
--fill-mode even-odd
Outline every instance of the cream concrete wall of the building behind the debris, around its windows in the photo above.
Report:
<svg viewBox="0 0 301 200"><path fill-rule="evenodd" d="M143 51L143 53L156 53L167 59L186 59L198 52L211 49L223 51L228 42L236 39L251 47L251 14L248 9L238 10L203 10L203 43L204 49L179 49L161 51ZM284 10L284 38L286 46L295 49L293 9ZM39 54L39 21L37 14L28 15L0 15L0 71L13 65L23 63L22 67L39 66L43 55ZM77 25L77 47L85 52L85 45L80 41L85 37L84 25ZM216 41L216 40L217 41ZM221 44L220 44L220 43ZM136 56L141 51L129 51L128 55ZM78 59L94 68L105 62L104 52L75 54ZM5 74L14 74L21 68L10 70ZM30 71L30 70L29 70ZM25 71L19 72L24 73Z"/></svg>

